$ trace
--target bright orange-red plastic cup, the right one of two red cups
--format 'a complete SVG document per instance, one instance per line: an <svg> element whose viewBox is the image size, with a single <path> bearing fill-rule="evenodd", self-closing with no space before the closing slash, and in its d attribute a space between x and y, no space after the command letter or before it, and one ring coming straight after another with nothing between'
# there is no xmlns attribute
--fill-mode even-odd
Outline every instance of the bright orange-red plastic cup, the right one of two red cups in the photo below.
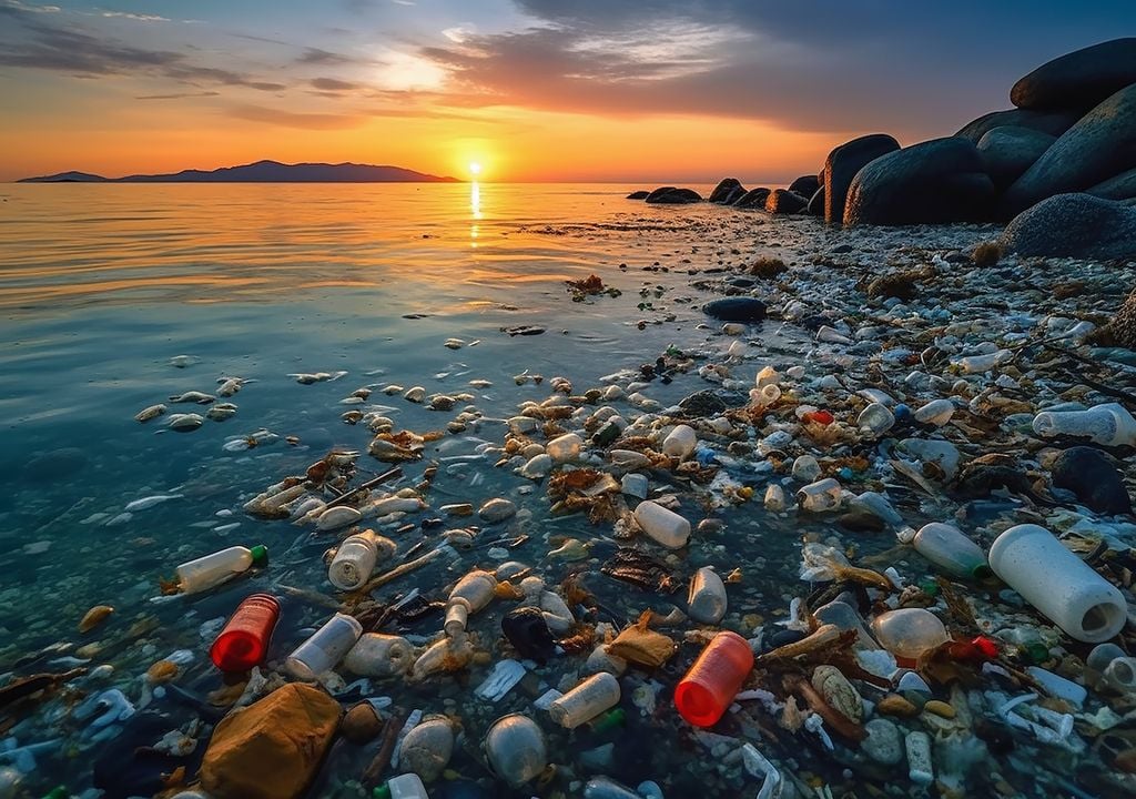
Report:
<svg viewBox="0 0 1136 799"><path fill-rule="evenodd" d="M737 633L720 632L675 686L675 706L696 727L718 723L753 668L753 651Z"/></svg>

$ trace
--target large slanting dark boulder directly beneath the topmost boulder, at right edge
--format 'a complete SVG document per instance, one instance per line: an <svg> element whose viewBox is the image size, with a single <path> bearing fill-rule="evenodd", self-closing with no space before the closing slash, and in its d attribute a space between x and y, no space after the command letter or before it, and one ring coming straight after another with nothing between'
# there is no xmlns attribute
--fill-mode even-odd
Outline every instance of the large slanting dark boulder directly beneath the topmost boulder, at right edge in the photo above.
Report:
<svg viewBox="0 0 1136 799"><path fill-rule="evenodd" d="M1002 198L1016 214L1136 167L1136 85L1121 89L1066 131Z"/></svg>

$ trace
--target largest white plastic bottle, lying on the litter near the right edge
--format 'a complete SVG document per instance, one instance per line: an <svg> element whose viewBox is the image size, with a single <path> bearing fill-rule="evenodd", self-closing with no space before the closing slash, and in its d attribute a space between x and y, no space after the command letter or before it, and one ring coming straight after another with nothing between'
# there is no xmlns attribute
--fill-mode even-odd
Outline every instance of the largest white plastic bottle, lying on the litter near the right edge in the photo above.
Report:
<svg viewBox="0 0 1136 799"><path fill-rule="evenodd" d="M1125 626L1128 608L1120 591L1045 527L1010 527L991 547L989 561L1010 588L1078 641L1108 641Z"/></svg>

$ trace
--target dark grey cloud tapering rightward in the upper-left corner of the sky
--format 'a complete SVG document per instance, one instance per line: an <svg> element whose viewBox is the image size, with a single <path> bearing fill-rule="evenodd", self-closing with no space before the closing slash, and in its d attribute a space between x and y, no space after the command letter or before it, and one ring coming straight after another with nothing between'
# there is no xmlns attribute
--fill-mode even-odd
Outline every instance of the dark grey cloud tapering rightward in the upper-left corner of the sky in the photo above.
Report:
<svg viewBox="0 0 1136 799"><path fill-rule="evenodd" d="M0 6L0 66L65 72L80 77L148 75L199 86L245 86L266 92L286 89L231 69L187 63L172 50L147 50L103 39L16 6Z"/></svg>

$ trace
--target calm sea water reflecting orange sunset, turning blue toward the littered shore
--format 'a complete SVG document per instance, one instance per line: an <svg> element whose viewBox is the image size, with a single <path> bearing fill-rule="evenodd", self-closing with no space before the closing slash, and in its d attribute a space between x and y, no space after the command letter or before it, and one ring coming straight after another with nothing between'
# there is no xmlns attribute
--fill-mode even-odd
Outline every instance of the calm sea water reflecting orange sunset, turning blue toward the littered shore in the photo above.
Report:
<svg viewBox="0 0 1136 799"><path fill-rule="evenodd" d="M349 409L342 400L354 389L396 383L459 393L471 391L470 380L484 378L493 385L474 391L476 405L487 416L503 417L516 413L518 402L549 396L548 382L513 382L526 369L546 378L569 376L583 391L601 375L653 361L676 341L724 352L729 340L709 327L698 330L705 322L699 307L709 294L690 285L688 272L760 251L757 233L768 223L717 207L630 202L624 199L630 188L5 186L0 675L16 665L27 673L61 671L78 660L89 667L109 664L114 675L87 690L122 688L140 701L147 667L187 650L194 660L178 684L202 696L218 688L206 655L216 632L209 622L216 625L256 590L331 591L320 559L326 536L311 539L287 522L252 519L241 503L302 473L332 447L366 449L367 431L340 421ZM570 301L563 281L591 273L623 294ZM512 338L501 330L519 325L546 332ZM778 335L771 330L762 335L776 351ZM467 346L448 349L443 342L451 336ZM172 366L176 356L190 356L192 365ZM314 385L289 376L302 372L346 374ZM211 393L228 376L248 381L232 398L239 411L228 421L207 421L186 434L165 431L161 418L147 425L134 421L139 410L170 396ZM667 403L702 388L707 384L691 375L673 385L655 382L649 393ZM377 390L369 405L386 407L399 427L419 432L444 428L453 416ZM168 413L176 411L204 408L170 405ZM223 449L260 428L282 438L243 452ZM289 435L299 446L286 444ZM474 455L485 440L500 443L500 430L450 436L432 452L443 464L431 494L435 507L477 505L494 496L531 502L533 542L511 555L542 563L550 583L568 567L544 559L550 535L594 539L600 558L613 551L610 531L578 516L549 519L542 490L526 499L528 481ZM360 466L384 468L366 456ZM408 472L416 476L423 466ZM176 498L125 513L130 502L154 494ZM765 558L776 557L791 573L796 541L788 535L761 542L751 532L733 544L737 552L753 552L745 560L753 569L746 591L769 591L762 611L784 604L776 574L761 574ZM256 543L273 552L267 574L191 601L153 601L158 577L169 576L178 563ZM392 586L392 594L416 583L436 593L478 558L484 556L424 571ZM605 601L628 614L641 610L644 598L617 585L603 589ZM97 604L116 611L97 631L78 634L78 619ZM302 631L327 614L290 604L270 659L286 655ZM427 619L416 632L428 635L435 622ZM487 624L491 643L499 619ZM57 643L66 646L30 659ZM476 742L492 718L531 701L519 697L511 706L485 705L476 713L467 707L471 685L486 669L476 667L460 684L442 680L412 690L427 710L465 714L467 735ZM440 698L445 706L433 707ZM92 758L115 757L107 755L114 733L87 729L64 710L47 716L11 731L22 744L55 742L53 751L48 747L40 755L48 767L30 777L30 786L89 785ZM645 775L657 755L642 752L627 763L638 763L632 772ZM457 767L476 774L479 766L462 757ZM349 757L342 773L358 774L362 765L366 758ZM357 796L333 783L317 793Z"/></svg>

